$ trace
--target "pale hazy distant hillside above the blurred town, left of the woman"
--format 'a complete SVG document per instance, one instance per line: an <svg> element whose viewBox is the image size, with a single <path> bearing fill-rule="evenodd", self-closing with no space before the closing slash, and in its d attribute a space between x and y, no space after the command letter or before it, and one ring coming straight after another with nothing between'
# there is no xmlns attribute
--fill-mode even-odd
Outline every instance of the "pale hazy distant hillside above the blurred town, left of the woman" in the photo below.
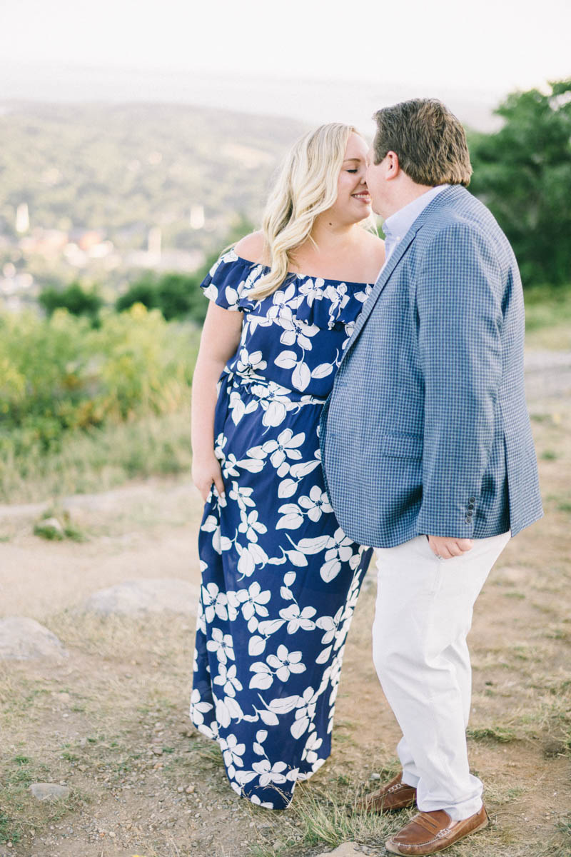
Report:
<svg viewBox="0 0 571 857"><path fill-rule="evenodd" d="M15 210L27 203L30 231L98 230L120 250L144 248L155 225L164 247L209 250L235 213L257 222L277 159L304 130L292 119L172 104L11 103L0 112L0 234L15 239Z"/></svg>

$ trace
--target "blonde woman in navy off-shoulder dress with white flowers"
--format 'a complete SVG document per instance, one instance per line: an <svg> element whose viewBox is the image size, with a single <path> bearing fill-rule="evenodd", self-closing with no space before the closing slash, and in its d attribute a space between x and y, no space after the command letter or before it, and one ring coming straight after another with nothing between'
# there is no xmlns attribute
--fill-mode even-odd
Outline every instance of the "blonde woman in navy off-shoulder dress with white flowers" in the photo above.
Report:
<svg viewBox="0 0 571 857"><path fill-rule="evenodd" d="M205 499L191 718L232 788L271 809L330 753L342 653L370 558L325 493L318 423L384 244L366 142L329 124L294 145L262 233L203 286L193 480Z"/></svg>

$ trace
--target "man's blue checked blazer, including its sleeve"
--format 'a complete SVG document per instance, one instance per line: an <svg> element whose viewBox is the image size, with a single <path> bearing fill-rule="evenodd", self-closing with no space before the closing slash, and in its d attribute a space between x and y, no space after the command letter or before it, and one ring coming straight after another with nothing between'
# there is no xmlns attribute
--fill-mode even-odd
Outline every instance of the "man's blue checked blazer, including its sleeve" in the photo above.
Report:
<svg viewBox="0 0 571 857"><path fill-rule="evenodd" d="M514 536L541 517L523 342L508 240L451 186L390 255L324 405L325 482L348 536Z"/></svg>

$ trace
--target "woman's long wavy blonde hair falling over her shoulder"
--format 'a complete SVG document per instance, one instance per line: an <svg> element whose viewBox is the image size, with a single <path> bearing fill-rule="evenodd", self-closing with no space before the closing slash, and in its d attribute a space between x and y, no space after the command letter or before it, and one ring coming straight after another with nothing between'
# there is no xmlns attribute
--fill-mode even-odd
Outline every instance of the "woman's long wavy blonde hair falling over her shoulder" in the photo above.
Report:
<svg viewBox="0 0 571 857"><path fill-rule="evenodd" d="M359 134L353 125L320 125L289 150L262 220L263 258L270 270L249 297L260 300L279 289L288 275L292 250L313 240L314 220L336 202L337 178L352 134Z"/></svg>

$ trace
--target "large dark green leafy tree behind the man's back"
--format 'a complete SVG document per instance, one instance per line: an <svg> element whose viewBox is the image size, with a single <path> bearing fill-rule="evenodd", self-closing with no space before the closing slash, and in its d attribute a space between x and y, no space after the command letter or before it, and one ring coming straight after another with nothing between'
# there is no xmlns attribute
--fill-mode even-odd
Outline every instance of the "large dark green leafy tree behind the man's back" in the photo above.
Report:
<svg viewBox="0 0 571 857"><path fill-rule="evenodd" d="M571 281L571 80L511 93L503 127L474 134L470 189L514 248L524 285Z"/></svg>

